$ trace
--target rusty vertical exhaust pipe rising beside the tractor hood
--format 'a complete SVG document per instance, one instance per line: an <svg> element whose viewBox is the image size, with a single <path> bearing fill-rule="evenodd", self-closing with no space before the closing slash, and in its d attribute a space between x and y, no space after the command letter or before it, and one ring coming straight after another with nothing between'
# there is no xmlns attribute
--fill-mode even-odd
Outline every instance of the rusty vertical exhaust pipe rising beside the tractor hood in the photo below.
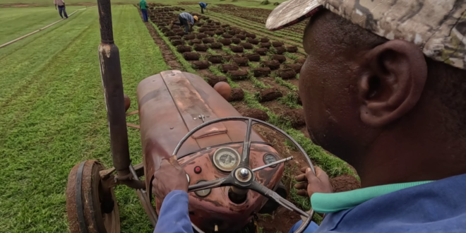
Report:
<svg viewBox="0 0 466 233"><path fill-rule="evenodd" d="M110 0L97 0L97 6L99 8L101 37L99 45L100 76L102 76L107 107L110 148L112 150L113 166L117 169L119 177L125 177L129 174L130 159L120 55L113 40Z"/></svg>

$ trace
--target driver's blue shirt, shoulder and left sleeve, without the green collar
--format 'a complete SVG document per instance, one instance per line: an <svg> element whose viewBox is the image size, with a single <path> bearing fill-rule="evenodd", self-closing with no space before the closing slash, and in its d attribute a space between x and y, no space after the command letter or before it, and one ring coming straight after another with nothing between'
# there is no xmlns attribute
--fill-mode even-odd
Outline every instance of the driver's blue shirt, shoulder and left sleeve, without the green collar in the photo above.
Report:
<svg viewBox="0 0 466 233"><path fill-rule="evenodd" d="M294 227L292 231L297 229ZM162 232L193 232L186 192L172 191L165 198L154 230ZM312 224L305 231L323 232L466 232L466 174L387 193L354 208L329 213L319 227Z"/></svg>

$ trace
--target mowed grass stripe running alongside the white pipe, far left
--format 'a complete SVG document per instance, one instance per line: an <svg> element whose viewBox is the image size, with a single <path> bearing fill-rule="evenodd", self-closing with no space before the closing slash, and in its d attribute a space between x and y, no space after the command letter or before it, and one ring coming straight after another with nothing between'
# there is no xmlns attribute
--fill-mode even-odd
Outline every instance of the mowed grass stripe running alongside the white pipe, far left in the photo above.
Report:
<svg viewBox="0 0 466 233"><path fill-rule="evenodd" d="M83 12L82 20L72 20L69 23L50 30L34 42L17 52L0 60L0 143L8 136L8 129L12 129L30 109L44 95L49 80L53 80L59 73L58 68L68 66L68 57L57 59L56 56L79 37L96 18L89 17L97 13ZM54 37L63 38L56 43L49 43ZM20 43L20 42L18 42ZM49 70L51 73L44 74ZM65 71L68 73L68 71Z"/></svg>

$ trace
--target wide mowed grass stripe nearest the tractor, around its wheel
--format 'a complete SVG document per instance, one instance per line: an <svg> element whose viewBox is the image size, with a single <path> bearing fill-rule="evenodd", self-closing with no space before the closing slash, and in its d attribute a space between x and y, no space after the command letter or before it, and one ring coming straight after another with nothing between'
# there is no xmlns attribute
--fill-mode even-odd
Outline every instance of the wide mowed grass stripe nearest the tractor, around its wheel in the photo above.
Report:
<svg viewBox="0 0 466 233"><path fill-rule="evenodd" d="M129 10L133 6L129 7L113 8L126 89L166 66L147 29ZM20 103L28 106L28 111L13 129L6 129L8 138L0 145L0 162L6 166L0 170L0 231L67 232L64 193L71 167L86 159L100 159L111 166L97 59L97 11L86 17L91 19L87 29L54 55L61 63L51 63L36 74L49 77L40 88L41 95ZM133 92L136 96L136 90ZM137 105L136 98L133 105ZM129 135L136 163L141 161L139 133L129 130ZM151 232L134 191L119 187L117 196L122 232Z"/></svg>

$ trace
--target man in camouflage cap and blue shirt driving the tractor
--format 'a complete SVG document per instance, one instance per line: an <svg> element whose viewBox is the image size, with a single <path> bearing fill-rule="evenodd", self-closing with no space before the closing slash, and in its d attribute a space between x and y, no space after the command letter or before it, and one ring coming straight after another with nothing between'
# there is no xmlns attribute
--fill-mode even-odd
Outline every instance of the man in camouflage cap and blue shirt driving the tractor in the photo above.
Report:
<svg viewBox="0 0 466 233"><path fill-rule="evenodd" d="M295 187L326 214L305 232L465 232L466 2L289 0L266 26L305 18L309 135L362 183L333 193L322 169L304 167ZM193 232L177 159L154 177L163 200L154 232Z"/></svg>

